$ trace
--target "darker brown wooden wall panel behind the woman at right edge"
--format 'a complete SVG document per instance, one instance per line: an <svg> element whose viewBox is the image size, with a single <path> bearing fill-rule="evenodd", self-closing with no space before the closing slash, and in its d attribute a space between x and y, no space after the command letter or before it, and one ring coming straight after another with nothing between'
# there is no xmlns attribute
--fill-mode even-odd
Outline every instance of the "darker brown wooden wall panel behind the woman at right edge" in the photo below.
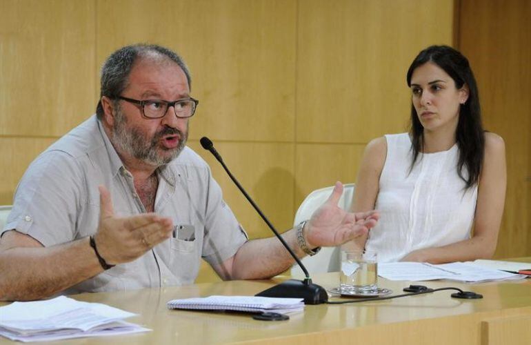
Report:
<svg viewBox="0 0 531 345"><path fill-rule="evenodd" d="M497 257L531 255L531 2L461 0L459 47L477 77L485 128L501 135L508 186Z"/></svg>

